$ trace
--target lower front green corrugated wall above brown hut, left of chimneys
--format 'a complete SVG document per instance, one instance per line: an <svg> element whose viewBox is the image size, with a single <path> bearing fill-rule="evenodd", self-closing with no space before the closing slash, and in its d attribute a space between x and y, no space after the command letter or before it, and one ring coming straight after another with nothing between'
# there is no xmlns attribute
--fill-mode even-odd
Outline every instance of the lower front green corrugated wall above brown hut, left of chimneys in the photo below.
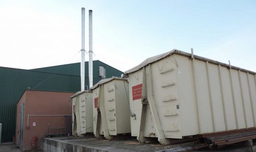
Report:
<svg viewBox="0 0 256 152"><path fill-rule="evenodd" d="M0 122L3 124L3 143L12 141L12 135L15 135L16 103L28 87L33 90L77 92L80 90L80 76L0 67Z"/></svg>

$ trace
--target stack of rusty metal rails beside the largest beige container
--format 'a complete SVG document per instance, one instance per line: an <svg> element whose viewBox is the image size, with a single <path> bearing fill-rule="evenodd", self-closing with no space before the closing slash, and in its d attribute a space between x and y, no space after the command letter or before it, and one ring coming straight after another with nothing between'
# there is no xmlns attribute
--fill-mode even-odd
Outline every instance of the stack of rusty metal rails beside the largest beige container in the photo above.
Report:
<svg viewBox="0 0 256 152"><path fill-rule="evenodd" d="M209 146L214 147L223 147L250 139L256 139L255 127L198 135L198 141L200 144L208 144Z"/></svg>

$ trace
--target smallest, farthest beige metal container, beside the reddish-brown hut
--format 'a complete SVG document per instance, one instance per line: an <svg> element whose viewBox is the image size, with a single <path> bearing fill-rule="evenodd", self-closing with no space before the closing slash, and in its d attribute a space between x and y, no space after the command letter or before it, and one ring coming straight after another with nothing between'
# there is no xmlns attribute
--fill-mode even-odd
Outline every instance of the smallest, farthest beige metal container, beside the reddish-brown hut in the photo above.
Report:
<svg viewBox="0 0 256 152"><path fill-rule="evenodd" d="M83 136L93 132L92 92L80 91L72 97L72 133Z"/></svg>

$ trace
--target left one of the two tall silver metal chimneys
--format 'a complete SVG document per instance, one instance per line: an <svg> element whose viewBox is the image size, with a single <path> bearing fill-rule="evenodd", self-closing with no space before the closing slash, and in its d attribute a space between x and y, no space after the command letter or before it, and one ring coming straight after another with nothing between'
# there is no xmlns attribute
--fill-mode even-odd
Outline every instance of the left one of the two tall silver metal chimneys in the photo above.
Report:
<svg viewBox="0 0 256 152"><path fill-rule="evenodd" d="M82 49L81 49L81 53L82 53L82 59L81 59L81 91L84 90L84 75L85 75L85 67L84 67L84 32L85 32L85 28L84 28L84 18L85 18L85 9L82 8Z"/></svg>

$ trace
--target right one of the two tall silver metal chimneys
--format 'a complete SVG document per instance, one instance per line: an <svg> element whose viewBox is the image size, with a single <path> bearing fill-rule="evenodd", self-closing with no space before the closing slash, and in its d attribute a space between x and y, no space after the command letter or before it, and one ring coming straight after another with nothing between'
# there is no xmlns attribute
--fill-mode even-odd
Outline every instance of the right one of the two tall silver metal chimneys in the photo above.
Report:
<svg viewBox="0 0 256 152"><path fill-rule="evenodd" d="M92 63L92 10L89 10L89 87L93 85L93 63Z"/></svg>

